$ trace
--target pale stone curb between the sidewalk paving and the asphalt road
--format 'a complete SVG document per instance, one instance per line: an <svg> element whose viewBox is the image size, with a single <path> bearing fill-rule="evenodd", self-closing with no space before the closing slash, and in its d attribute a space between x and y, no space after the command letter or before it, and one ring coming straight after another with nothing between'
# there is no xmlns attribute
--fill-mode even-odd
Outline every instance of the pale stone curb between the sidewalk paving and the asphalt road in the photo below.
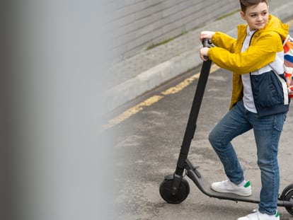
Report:
<svg viewBox="0 0 293 220"><path fill-rule="evenodd" d="M200 46L184 52L177 57L173 57L166 62L143 71L132 79L110 88L104 94L104 98L107 100L106 108L108 110L114 110L120 105L137 98L139 95L151 91L162 83L200 65L202 60L198 55L199 50Z"/></svg>

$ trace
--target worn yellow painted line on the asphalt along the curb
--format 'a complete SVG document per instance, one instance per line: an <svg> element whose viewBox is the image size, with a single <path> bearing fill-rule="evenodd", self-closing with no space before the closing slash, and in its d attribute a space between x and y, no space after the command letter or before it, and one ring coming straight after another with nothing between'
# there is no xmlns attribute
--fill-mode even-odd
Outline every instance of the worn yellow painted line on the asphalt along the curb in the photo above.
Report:
<svg viewBox="0 0 293 220"><path fill-rule="evenodd" d="M216 64L213 64L211 67L211 70L209 71L209 74L214 73L214 71L217 71L218 69L219 69L219 66L217 66ZM189 86L191 83L193 83L193 81L195 81L195 79L198 79L199 77L200 77L200 73L194 74L193 76L188 77L188 79L185 79L182 82L178 83L176 86L173 86L171 88L168 88L166 91L163 91L161 95L151 96L151 98L144 100L142 103L139 103L138 105L135 105L134 107L129 108L122 114L109 120L107 124L102 126L102 130L109 129L110 127L114 127L115 125L120 124L121 122L132 117L132 115L135 115L141 110L143 110L144 107L153 105L154 103L158 102L165 95L175 94L175 93L178 93L179 91L182 91L183 88Z"/></svg>

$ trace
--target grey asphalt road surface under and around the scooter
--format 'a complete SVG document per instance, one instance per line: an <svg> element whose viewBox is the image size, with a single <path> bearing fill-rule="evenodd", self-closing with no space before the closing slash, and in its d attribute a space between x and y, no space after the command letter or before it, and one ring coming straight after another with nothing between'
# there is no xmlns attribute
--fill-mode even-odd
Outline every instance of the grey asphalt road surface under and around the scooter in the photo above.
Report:
<svg viewBox="0 0 293 220"><path fill-rule="evenodd" d="M197 71L199 69L180 76L141 98L146 99L169 88L177 88L176 85ZM229 108L231 77L231 72L224 69L219 69L209 76L195 137L188 155L194 166L200 166L200 173L209 183L226 178L222 164L212 150L207 136ZM177 93L165 95L154 105L143 108L136 115L109 129L110 134L115 134L111 139L117 155L114 169L116 191L113 207L117 208L115 220L232 220L245 216L258 207L254 203L209 198L200 192L189 178L186 180L190 185L190 194L185 201L180 204L168 204L161 198L159 185L164 176L175 171L196 85L197 80ZM292 130L291 106L280 141L280 192L293 183L292 148L288 144L292 139ZM246 179L251 181L253 195L257 196L260 172L256 163L253 132L237 137L233 144ZM282 220L293 219L284 207L279 207L278 211Z"/></svg>

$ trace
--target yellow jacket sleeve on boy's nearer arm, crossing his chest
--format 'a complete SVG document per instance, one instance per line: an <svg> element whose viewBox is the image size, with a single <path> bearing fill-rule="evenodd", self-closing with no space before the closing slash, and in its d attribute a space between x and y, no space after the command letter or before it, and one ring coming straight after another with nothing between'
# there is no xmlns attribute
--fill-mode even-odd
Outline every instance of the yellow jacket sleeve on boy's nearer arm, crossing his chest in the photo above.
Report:
<svg viewBox="0 0 293 220"><path fill-rule="evenodd" d="M222 45L224 43L222 42ZM241 45L239 45L241 47ZM283 50L280 35L275 32L263 33L252 40L251 46L244 52L231 52L228 47L212 47L208 56L218 66L236 74L247 74L273 62L276 53ZM238 51L241 51L238 49Z"/></svg>

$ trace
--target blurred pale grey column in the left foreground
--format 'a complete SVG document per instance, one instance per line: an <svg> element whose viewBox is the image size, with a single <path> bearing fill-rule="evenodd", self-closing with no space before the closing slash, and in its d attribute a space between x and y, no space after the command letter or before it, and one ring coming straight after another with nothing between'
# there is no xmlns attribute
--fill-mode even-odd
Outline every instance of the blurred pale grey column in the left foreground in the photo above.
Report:
<svg viewBox="0 0 293 220"><path fill-rule="evenodd" d="M9 6L5 157L13 219L110 219L114 158L98 132L108 9L88 0Z"/></svg>

